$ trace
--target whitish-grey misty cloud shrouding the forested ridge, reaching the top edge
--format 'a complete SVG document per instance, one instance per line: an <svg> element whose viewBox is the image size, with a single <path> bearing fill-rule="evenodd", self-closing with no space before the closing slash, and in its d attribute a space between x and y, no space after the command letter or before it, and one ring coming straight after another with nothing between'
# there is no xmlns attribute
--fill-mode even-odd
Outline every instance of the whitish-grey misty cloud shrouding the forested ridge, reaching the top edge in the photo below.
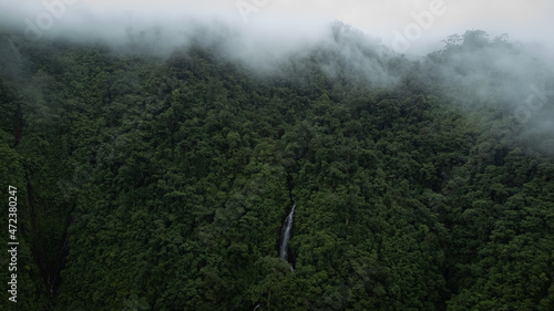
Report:
<svg viewBox="0 0 554 311"><path fill-rule="evenodd" d="M120 52L161 56L201 44L263 74L285 74L284 68L293 59L314 56L329 77L363 73L372 86L391 87L406 82L407 76L417 76L429 87L442 85L445 94L470 110L482 104L505 107L514 122L524 126L525 135L554 133L552 118L548 120L552 96L547 94L546 101L537 96L542 101L538 108L527 103L533 87L548 92L547 81L554 72L554 44L547 35L551 28L530 25L534 19L552 23L545 11L553 8L550 2L536 1L527 7L522 7L522 1L485 4L449 0L365 4L353 0L317 4L278 0L216 2L219 7L211 9L193 1L170 0L146 4L0 0L0 27L19 30L30 40L63 37L83 43L100 41ZM246 11L240 11L240 6L246 6ZM371 8L375 10L369 12ZM514 9L520 11L512 18L506 15ZM380 12L393 15L380 17ZM367 23L360 20L365 15L371 17ZM334 17L352 27L334 21ZM509 25L510 20L520 28ZM416 27L420 33L413 32ZM497 44L469 49L479 40L472 43L468 41L471 38L465 38L458 42L461 45L455 48L456 53L443 50L445 42L441 40L453 33L464 34L468 29L490 31L486 41L495 42L497 37ZM394 31L408 40L406 51L396 51L391 41ZM504 32L510 37L503 37ZM433 51L437 52L424 56ZM11 45L2 46L0 52L13 52L17 58L17 49ZM399 53L406 53L412 62ZM391 63L410 65L398 70ZM16 72L17 66L11 66Z"/></svg>

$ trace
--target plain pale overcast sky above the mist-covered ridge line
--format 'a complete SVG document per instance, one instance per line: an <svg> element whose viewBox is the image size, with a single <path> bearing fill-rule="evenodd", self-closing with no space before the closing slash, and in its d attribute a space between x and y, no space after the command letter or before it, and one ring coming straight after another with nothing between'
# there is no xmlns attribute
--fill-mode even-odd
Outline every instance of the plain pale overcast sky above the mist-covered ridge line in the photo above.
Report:
<svg viewBox="0 0 554 311"><path fill-rule="evenodd" d="M482 29L492 37L509 33L511 40L554 46L552 0L0 0L0 18L21 27L24 19L37 23L38 17L48 12L44 3L60 1L68 4L54 19L57 27L86 22L93 27L99 17L125 24L215 14L246 29L285 32L309 32L321 22L340 20L381 38L389 46L401 34L409 39L412 51L431 43L440 46L447 35L468 29ZM422 17L418 27L416 15Z"/></svg>

